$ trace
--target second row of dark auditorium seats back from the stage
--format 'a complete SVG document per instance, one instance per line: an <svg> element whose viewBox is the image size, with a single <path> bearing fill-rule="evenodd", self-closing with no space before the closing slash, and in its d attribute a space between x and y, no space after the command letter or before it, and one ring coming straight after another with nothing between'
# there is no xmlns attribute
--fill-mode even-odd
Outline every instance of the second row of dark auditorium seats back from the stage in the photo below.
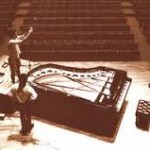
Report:
<svg viewBox="0 0 150 150"><path fill-rule="evenodd" d="M44 45L44 46L43 46ZM25 50L35 49L37 51L135 51L137 50L137 44L124 41L61 41L61 40L34 40L32 43L23 44L22 47ZM34 52L34 51L33 51Z"/></svg>

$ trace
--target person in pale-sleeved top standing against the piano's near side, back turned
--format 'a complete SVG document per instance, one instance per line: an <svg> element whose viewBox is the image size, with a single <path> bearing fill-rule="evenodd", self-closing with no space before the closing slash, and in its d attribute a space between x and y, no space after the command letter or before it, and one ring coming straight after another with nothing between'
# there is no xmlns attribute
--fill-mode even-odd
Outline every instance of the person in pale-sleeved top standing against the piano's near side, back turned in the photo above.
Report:
<svg viewBox="0 0 150 150"><path fill-rule="evenodd" d="M37 93L27 84L27 79L28 76L26 74L21 74L19 76L19 83L13 84L6 94L16 100L15 103L20 112L22 126L20 133L23 136L28 135L34 127L34 124L31 123L31 106L32 101L37 98Z"/></svg>

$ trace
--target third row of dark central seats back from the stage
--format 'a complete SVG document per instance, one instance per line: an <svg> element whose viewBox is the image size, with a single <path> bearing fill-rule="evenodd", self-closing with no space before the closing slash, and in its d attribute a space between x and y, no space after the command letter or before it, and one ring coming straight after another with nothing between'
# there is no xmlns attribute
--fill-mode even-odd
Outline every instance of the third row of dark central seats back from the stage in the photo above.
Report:
<svg viewBox="0 0 150 150"><path fill-rule="evenodd" d="M130 32L63 32L63 31L37 31L33 32L30 39L64 39L64 40L129 40L134 41Z"/></svg>

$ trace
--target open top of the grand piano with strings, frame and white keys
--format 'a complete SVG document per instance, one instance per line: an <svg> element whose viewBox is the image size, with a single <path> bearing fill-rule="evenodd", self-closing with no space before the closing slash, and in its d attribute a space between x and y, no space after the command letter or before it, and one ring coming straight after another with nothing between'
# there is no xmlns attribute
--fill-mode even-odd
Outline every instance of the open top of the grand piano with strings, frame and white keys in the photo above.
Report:
<svg viewBox="0 0 150 150"><path fill-rule="evenodd" d="M74 68L40 65L29 72L29 83L47 91L79 97L86 102L120 111L131 79L127 73L109 67Z"/></svg>

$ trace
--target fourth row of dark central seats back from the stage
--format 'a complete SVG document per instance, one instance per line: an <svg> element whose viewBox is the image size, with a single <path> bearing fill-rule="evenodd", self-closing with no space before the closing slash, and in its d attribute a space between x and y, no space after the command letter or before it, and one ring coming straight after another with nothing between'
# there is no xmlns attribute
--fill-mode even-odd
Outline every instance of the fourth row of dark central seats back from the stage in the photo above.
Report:
<svg viewBox="0 0 150 150"><path fill-rule="evenodd" d="M41 25L41 24L29 24L27 26L23 26L23 28L28 28L32 26L36 31L113 31L113 32L129 32L129 26L124 24L50 24L50 25Z"/></svg>

